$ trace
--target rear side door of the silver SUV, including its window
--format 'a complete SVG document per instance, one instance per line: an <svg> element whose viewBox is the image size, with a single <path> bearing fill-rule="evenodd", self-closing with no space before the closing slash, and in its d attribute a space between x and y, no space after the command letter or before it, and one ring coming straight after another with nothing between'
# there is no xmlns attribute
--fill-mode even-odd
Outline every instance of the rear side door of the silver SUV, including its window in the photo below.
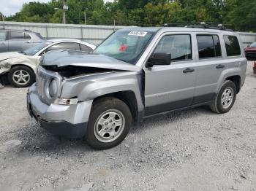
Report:
<svg viewBox="0 0 256 191"><path fill-rule="evenodd" d="M202 104L214 97L222 71L227 69L223 60L223 47L219 34L195 34L197 42L197 78L192 104Z"/></svg>

